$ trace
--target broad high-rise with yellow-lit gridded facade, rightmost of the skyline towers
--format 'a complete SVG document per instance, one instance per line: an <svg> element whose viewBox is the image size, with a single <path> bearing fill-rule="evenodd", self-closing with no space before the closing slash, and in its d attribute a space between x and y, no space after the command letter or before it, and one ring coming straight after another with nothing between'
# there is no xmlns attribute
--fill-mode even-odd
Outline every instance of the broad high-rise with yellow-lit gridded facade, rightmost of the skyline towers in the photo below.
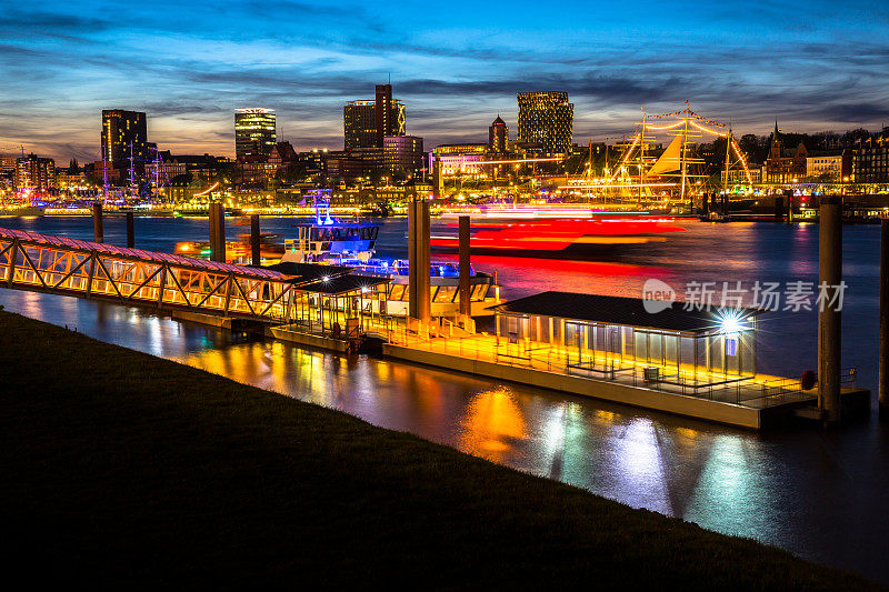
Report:
<svg viewBox="0 0 889 592"><path fill-rule="evenodd" d="M575 106L560 91L519 92L519 133L521 142L538 144L543 153L566 153L571 148Z"/></svg>

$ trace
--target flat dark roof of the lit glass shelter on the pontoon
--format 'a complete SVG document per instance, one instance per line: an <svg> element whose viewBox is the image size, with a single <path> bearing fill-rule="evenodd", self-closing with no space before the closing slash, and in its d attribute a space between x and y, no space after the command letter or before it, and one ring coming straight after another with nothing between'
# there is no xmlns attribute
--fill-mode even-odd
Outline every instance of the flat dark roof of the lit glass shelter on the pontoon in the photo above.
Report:
<svg viewBox="0 0 889 592"><path fill-rule="evenodd" d="M619 324L661 331L702 333L719 328L717 310L685 310L682 302L660 312L648 312L640 298L623 298L572 292L542 292L491 307L507 314L535 314L567 320ZM740 318L759 314L758 309L730 308Z"/></svg>

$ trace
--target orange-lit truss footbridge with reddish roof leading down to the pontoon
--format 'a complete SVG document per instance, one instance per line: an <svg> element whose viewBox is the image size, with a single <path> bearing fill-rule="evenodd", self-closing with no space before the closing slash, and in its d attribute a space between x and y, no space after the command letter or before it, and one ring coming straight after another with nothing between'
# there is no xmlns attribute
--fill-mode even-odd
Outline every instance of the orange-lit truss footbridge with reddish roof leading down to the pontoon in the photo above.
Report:
<svg viewBox="0 0 889 592"><path fill-rule="evenodd" d="M318 278L0 228L2 288L289 322L291 308L318 284Z"/></svg>

